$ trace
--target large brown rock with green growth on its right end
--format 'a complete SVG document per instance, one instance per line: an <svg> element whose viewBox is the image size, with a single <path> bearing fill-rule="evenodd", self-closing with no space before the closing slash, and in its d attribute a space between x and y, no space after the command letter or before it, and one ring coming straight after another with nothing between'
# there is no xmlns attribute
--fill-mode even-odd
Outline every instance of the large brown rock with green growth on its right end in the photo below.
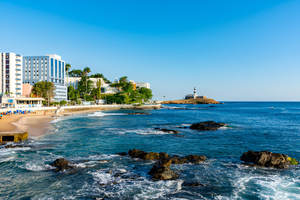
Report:
<svg viewBox="0 0 300 200"><path fill-rule="evenodd" d="M274 167L287 169L290 165L297 165L298 161L286 154L272 153L269 151L247 151L240 157L248 166Z"/></svg>

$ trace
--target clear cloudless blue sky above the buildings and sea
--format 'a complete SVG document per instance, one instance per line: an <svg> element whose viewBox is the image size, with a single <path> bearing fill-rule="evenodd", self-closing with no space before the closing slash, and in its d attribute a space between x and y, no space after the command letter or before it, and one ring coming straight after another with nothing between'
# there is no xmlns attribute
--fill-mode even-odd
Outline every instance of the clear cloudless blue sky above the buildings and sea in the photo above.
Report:
<svg viewBox="0 0 300 200"><path fill-rule="evenodd" d="M0 52L149 82L154 100L300 101L300 1L0 0Z"/></svg>

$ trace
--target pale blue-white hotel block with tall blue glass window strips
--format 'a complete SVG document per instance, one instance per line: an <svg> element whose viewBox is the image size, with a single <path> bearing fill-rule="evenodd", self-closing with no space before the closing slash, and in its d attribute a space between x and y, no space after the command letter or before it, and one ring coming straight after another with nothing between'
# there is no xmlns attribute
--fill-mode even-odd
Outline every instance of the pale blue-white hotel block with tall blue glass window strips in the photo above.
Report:
<svg viewBox="0 0 300 200"><path fill-rule="evenodd" d="M55 101L67 100L65 61L61 56L23 56L23 83L34 85L39 81L51 81L56 86Z"/></svg>

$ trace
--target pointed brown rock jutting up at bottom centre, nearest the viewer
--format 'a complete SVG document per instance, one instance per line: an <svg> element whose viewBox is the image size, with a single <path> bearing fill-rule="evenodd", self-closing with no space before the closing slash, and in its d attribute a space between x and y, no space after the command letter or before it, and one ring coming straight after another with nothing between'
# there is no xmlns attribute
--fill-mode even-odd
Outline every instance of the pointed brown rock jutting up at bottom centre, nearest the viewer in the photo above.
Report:
<svg viewBox="0 0 300 200"><path fill-rule="evenodd" d="M170 180L178 178L179 175L170 169L172 160L170 158L161 158L152 167L149 175L152 175L151 179L156 180Z"/></svg>

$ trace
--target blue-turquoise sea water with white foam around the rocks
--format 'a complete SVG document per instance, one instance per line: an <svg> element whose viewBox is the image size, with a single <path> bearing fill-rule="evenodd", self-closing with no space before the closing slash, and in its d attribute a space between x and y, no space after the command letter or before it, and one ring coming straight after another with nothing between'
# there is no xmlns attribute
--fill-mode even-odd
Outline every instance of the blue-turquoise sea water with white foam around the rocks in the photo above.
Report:
<svg viewBox="0 0 300 200"><path fill-rule="evenodd" d="M53 122L55 131L18 142L28 147L0 149L1 199L300 198L299 166L287 170L248 167L239 160L248 150L284 153L300 160L300 102L208 106L215 105L164 105L165 109L157 110L108 110L60 117ZM150 115L124 114L128 112ZM205 132L177 127L211 120L229 125ZM173 137L155 127L179 130L185 137ZM147 173L154 161L115 155L133 148L205 155L208 159L200 164L171 165L178 179L152 181ZM49 163L61 157L82 169L54 172ZM114 177L118 174L122 175ZM183 181L205 186L183 187Z"/></svg>

